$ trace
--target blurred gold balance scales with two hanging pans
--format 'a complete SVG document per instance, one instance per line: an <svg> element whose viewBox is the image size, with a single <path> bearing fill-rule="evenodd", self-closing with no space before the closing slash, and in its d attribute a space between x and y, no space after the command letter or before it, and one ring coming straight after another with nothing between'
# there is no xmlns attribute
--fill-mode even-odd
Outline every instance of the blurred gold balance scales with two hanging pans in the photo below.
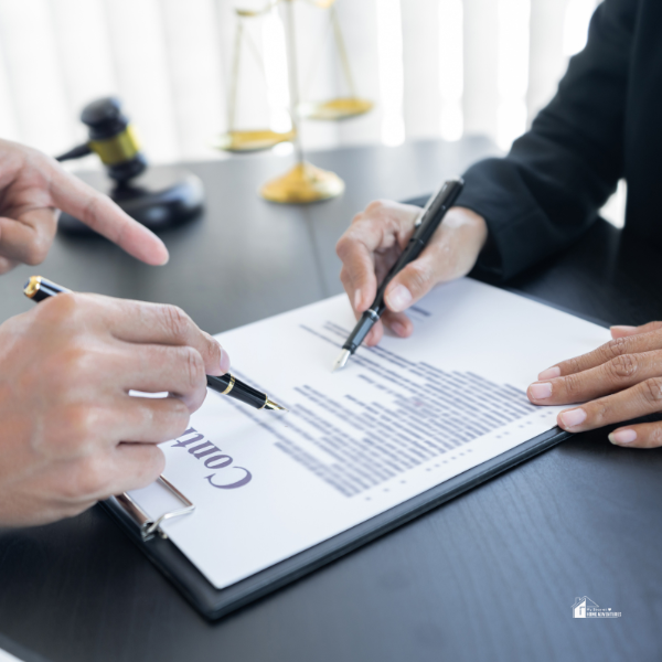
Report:
<svg viewBox="0 0 662 662"><path fill-rule="evenodd" d="M350 67L344 39L340 30L335 0L301 0L321 10L328 10L330 15L329 26L333 32L335 47L340 55L341 71L349 96L337 97L324 102L299 100L299 81L297 68L297 49L295 32L295 14L292 4L295 0L273 0L259 10L235 9L237 24L234 38L234 54L232 62L232 74L229 82L229 94L227 104L227 131L220 136L214 142L218 149L229 152L253 152L270 149L281 142L292 142L297 157L296 166L285 174L268 181L259 191L260 195L270 202L306 204L335 197L344 191L344 182L334 172L317 168L306 160L299 122L301 119L339 121L363 115L372 109L373 103L361 98L356 94L354 78ZM241 57L243 42L258 61L258 65L265 74L263 56L257 46L250 41L246 31L245 22L259 20L267 12L278 6L285 6L285 35L287 44L287 68L289 79L290 108L289 115L291 128L288 131L274 131L271 129L237 129L236 115L238 103L238 84L241 71Z"/></svg>

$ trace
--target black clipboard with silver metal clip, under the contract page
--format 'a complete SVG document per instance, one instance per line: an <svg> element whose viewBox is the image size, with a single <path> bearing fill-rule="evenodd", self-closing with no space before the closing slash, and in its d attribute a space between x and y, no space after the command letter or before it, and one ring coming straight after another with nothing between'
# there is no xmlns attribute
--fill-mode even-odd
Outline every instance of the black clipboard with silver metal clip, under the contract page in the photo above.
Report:
<svg viewBox="0 0 662 662"><path fill-rule="evenodd" d="M100 506L202 616L209 620L215 620L357 549L569 437L569 433L558 427L553 428L356 526L223 589L212 586L161 528L160 524L163 521L186 516L195 508L168 480L160 479L162 484L181 501L182 506L163 513L154 520L151 520L128 494L111 496L102 502Z"/></svg>

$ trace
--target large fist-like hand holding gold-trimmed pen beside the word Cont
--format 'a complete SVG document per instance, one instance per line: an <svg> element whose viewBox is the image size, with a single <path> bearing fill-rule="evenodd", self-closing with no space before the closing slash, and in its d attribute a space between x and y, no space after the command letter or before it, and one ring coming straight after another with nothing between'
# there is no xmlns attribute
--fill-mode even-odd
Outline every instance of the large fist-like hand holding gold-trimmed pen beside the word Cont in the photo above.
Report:
<svg viewBox="0 0 662 662"><path fill-rule="evenodd" d="M205 374L228 367L221 345L172 306L66 293L4 322L0 526L75 515L148 485L164 465L156 445L186 429Z"/></svg>

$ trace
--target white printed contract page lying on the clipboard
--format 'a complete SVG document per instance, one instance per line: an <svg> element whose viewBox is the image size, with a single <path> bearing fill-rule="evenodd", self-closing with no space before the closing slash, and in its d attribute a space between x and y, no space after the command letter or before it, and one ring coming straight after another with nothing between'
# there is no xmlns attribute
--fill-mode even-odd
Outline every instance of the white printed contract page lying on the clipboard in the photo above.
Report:
<svg viewBox="0 0 662 662"><path fill-rule="evenodd" d="M609 332L462 279L409 310L407 339L333 362L354 317L339 296L218 335L232 373L287 413L210 392L161 445L166 477L196 505L163 528L216 588L355 526L556 425L526 398L538 372ZM236 369L235 369L236 366ZM132 498L170 508L150 485Z"/></svg>

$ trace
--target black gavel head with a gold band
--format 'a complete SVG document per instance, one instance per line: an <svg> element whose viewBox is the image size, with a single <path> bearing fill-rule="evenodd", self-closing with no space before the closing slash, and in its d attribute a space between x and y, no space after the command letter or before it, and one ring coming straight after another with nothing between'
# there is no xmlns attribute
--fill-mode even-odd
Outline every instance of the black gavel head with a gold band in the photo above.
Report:
<svg viewBox="0 0 662 662"><path fill-rule="evenodd" d="M87 145L99 156L109 178L124 183L145 171L147 160L118 98L92 102L83 108L81 120L89 127Z"/></svg>

